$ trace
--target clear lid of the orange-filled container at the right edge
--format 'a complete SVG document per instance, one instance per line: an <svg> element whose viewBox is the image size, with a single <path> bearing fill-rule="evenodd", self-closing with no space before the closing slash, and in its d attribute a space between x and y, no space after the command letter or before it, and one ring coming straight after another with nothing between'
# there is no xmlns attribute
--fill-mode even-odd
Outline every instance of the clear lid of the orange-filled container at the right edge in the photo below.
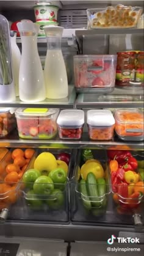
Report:
<svg viewBox="0 0 144 256"><path fill-rule="evenodd" d="M140 109L115 109L114 116L121 123L143 123L143 112Z"/></svg>

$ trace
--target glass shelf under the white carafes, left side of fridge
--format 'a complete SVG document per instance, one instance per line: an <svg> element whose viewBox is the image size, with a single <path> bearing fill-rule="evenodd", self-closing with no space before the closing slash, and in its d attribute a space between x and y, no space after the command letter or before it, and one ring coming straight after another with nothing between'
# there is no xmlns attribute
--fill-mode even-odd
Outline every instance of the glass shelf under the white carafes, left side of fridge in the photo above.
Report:
<svg viewBox="0 0 144 256"><path fill-rule="evenodd" d="M5 108L74 108L74 102L76 100L76 91L73 86L68 86L68 97L59 100L51 100L46 98L45 101L36 103L27 103L20 101L19 97L16 97L16 101L10 103L0 103L0 107Z"/></svg>

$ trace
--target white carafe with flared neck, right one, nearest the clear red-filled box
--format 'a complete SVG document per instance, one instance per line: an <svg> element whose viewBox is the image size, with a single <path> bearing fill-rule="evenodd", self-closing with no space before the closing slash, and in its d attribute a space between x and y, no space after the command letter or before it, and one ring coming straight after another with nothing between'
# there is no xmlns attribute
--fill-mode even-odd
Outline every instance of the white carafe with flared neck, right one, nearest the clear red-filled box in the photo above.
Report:
<svg viewBox="0 0 144 256"><path fill-rule="evenodd" d="M46 97L51 99L68 96L68 79L61 49L63 27L45 26L48 49L45 60Z"/></svg>

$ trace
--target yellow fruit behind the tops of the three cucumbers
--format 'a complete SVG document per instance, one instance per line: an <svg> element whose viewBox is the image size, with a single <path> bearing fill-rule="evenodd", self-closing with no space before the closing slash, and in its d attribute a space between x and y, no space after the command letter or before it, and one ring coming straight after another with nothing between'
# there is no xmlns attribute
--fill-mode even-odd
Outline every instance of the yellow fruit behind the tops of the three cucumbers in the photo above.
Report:
<svg viewBox="0 0 144 256"><path fill-rule="evenodd" d="M90 162L87 164L84 164L81 167L81 177L84 178L84 180L87 180L87 175L89 172L92 172L95 175L95 178L103 178L104 177L104 169L101 164L96 162Z"/></svg>

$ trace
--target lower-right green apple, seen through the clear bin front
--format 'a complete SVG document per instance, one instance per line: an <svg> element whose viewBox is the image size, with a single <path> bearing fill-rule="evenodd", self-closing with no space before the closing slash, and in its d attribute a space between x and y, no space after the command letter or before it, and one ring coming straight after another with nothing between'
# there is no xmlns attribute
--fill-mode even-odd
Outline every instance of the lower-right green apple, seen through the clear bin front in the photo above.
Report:
<svg viewBox="0 0 144 256"><path fill-rule="evenodd" d="M63 192L60 189L54 189L49 199L46 200L46 203L48 203L49 208L52 210L59 210L64 203Z"/></svg>

